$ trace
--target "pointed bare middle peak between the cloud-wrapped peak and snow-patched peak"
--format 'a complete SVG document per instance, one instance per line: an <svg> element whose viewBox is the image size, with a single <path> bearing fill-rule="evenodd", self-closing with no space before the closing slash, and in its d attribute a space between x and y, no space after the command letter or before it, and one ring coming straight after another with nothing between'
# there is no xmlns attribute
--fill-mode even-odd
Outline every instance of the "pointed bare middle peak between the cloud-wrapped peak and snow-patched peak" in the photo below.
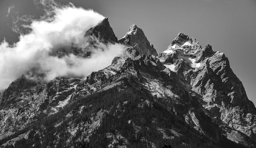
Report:
<svg viewBox="0 0 256 148"><path fill-rule="evenodd" d="M133 46L140 54L158 55L154 46L147 40L144 32L136 24L133 24L125 36L119 42Z"/></svg>

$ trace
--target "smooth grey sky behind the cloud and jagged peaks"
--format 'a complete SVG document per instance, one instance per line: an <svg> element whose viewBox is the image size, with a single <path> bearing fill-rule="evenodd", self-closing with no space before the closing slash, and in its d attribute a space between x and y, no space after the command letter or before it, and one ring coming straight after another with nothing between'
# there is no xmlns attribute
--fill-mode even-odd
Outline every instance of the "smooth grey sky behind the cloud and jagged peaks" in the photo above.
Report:
<svg viewBox="0 0 256 148"><path fill-rule="evenodd" d="M0 0L0 40L18 41L11 29L19 15L42 15L36 0ZM132 24L142 28L158 53L179 32L196 37L204 47L224 52L233 72L242 81L248 98L256 104L256 1L255 0L58 0L93 9L109 18L118 38ZM9 13L8 13L9 11Z"/></svg>

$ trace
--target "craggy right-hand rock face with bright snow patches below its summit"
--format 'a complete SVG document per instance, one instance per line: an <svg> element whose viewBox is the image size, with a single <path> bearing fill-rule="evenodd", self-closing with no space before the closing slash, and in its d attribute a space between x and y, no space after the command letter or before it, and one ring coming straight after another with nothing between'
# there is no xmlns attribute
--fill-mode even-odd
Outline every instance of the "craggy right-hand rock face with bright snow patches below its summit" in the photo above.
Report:
<svg viewBox="0 0 256 148"><path fill-rule="evenodd" d="M166 67L173 65L187 91L200 95L207 114L226 132L228 139L250 145L244 138L255 135L252 131L255 131L256 110L224 53L212 51L210 45L202 48L195 39L180 33L159 54L159 59Z"/></svg>

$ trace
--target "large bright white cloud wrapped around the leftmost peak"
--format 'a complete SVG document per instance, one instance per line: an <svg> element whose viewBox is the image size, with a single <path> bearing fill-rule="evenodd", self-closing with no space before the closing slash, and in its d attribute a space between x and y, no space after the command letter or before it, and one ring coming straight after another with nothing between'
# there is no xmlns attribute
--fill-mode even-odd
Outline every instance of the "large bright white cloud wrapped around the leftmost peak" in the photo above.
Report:
<svg viewBox="0 0 256 148"><path fill-rule="evenodd" d="M27 74L31 69L44 73L45 80L58 76L87 76L111 65L112 59L120 55L125 48L121 44L105 45L96 40L96 46L89 48L92 52L89 58L74 54L62 57L50 55L61 48L88 48L88 38L85 38L84 34L104 18L93 10L73 5L52 8L51 13L46 13L51 15L32 20L32 23L26 26L30 32L20 35L17 43L1 43L0 90L7 88L12 81Z"/></svg>

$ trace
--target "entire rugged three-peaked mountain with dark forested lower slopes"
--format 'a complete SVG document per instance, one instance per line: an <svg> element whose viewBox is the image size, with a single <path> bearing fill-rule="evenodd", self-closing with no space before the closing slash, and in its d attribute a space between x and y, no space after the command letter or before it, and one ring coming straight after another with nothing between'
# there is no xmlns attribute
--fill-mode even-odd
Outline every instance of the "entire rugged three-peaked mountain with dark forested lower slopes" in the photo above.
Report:
<svg viewBox="0 0 256 148"><path fill-rule="evenodd" d="M141 28L118 40L108 19L84 36L127 48L86 78L12 82L0 93L1 147L256 146L255 106L224 53L179 33L158 54Z"/></svg>

